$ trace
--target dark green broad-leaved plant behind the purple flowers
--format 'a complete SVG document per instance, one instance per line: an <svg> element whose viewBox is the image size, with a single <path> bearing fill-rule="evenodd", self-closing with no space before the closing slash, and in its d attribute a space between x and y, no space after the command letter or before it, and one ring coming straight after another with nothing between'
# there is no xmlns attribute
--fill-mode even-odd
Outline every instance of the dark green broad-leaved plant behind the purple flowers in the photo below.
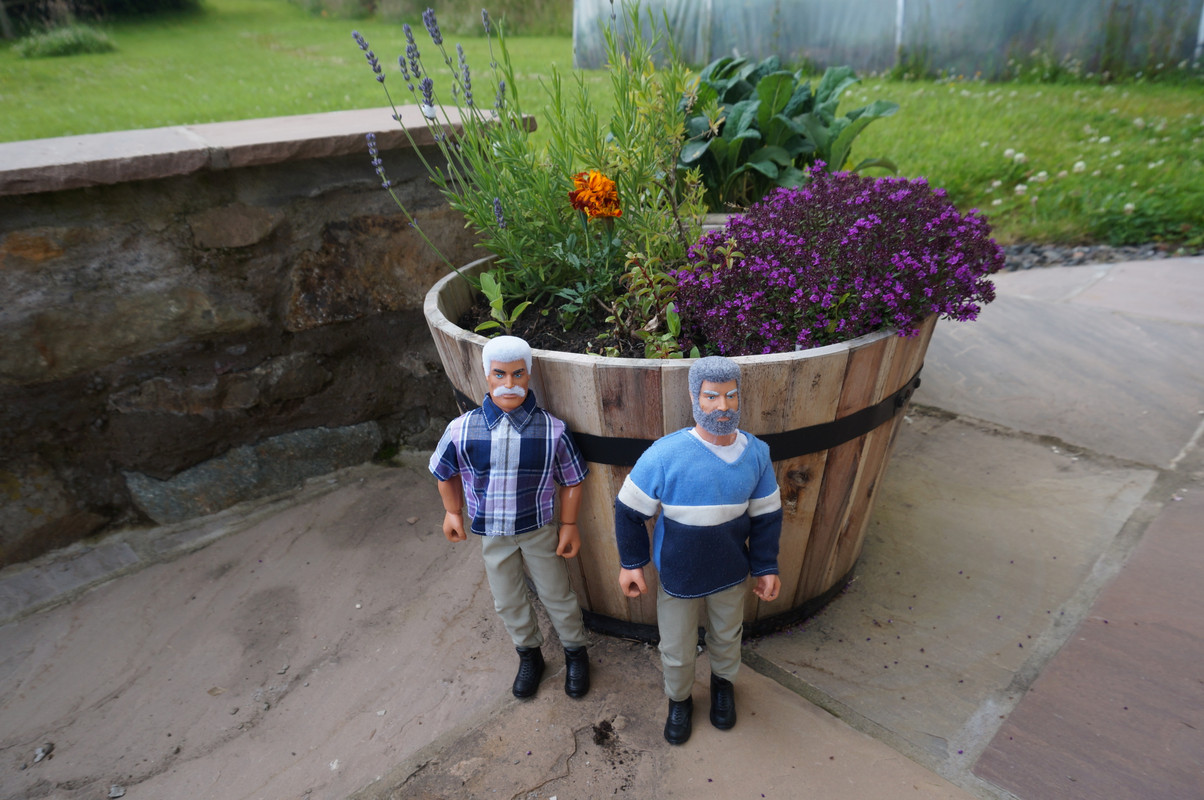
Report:
<svg viewBox="0 0 1204 800"><path fill-rule="evenodd" d="M802 72L783 69L777 57L760 63L720 58L701 75L685 129L689 141L679 166L698 167L713 210L748 206L771 189L797 187L805 169L821 160L831 171L850 169L852 142L874 119L898 111L898 104L875 100L837 116L840 95L858 82L848 66L828 67L813 90ZM896 171L885 158L863 159Z"/></svg>

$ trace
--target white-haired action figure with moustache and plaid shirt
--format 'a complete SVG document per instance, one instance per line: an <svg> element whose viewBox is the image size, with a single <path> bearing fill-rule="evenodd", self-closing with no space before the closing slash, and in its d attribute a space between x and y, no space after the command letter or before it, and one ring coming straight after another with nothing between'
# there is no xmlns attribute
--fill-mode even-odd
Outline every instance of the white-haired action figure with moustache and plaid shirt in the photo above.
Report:
<svg viewBox="0 0 1204 800"><path fill-rule="evenodd" d="M517 336L498 336L485 345L482 363L489 394L479 408L448 424L431 457L445 512L443 535L452 542L466 540L468 530L480 536L494 608L519 653L514 696L533 695L544 670L526 565L565 647L565 693L582 698L590 688L590 664L565 559L580 549L577 514L588 469L565 423L536 405L531 347ZM462 516L466 500L471 527Z"/></svg>

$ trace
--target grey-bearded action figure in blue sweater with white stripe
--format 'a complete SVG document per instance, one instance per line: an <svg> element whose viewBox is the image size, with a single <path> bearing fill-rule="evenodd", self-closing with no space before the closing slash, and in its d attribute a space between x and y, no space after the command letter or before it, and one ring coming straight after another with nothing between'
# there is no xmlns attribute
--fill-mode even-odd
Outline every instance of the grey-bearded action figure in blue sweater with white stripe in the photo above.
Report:
<svg viewBox="0 0 1204 800"><path fill-rule="evenodd" d="M740 666L745 581L751 573L754 593L766 601L781 588L781 496L769 447L738 429L739 389L736 361L695 361L690 395L697 424L655 441L614 502L624 594L648 590L649 561L660 576L656 623L669 699L665 739L672 745L690 737L698 612L706 610L710 723L727 730L736 724L732 678ZM657 512L649 549L644 522Z"/></svg>

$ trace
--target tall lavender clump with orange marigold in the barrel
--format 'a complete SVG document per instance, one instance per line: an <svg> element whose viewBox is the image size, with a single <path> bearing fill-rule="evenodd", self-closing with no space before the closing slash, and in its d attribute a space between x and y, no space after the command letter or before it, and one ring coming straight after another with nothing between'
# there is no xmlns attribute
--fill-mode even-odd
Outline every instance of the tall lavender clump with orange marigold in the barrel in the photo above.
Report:
<svg viewBox="0 0 1204 800"><path fill-rule="evenodd" d="M488 67L473 71L462 48L452 53L444 46L435 11L427 8L423 27L443 61L433 73L414 29L402 25L406 49L397 70L442 163L426 161L417 146L414 152L448 204L496 255L488 286L492 319L503 329L529 306L541 313L555 310L566 328L601 322L627 290L628 254L679 264L697 239L706 211L702 187L696 172L679 176L674 169L684 142L679 104L692 96L697 78L672 52L672 42L665 43L667 63L656 67L659 42L667 34L644 36L637 2L624 2L622 10L622 29L612 24L603 30L614 113L600 119L585 83L578 77L566 87L553 67L544 84L551 107L539 120L548 130L545 146L531 136L500 23L482 12L491 58ZM386 75L364 36L353 37L400 119L389 89L393 73ZM391 187L371 135L368 149L383 186L425 239L421 220ZM485 287L480 281L474 286ZM663 327L656 318L641 319L637 328L651 322Z"/></svg>

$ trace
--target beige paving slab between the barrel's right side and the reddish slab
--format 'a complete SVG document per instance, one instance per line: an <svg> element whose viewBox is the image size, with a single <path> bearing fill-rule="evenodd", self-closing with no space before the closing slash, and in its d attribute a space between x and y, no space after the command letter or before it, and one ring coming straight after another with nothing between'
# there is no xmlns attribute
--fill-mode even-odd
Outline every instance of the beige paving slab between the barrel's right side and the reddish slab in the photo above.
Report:
<svg viewBox="0 0 1204 800"><path fill-rule="evenodd" d="M973 784L969 766L1078 624L1156 477L914 413L852 583L810 620L752 642L754 664Z"/></svg>

